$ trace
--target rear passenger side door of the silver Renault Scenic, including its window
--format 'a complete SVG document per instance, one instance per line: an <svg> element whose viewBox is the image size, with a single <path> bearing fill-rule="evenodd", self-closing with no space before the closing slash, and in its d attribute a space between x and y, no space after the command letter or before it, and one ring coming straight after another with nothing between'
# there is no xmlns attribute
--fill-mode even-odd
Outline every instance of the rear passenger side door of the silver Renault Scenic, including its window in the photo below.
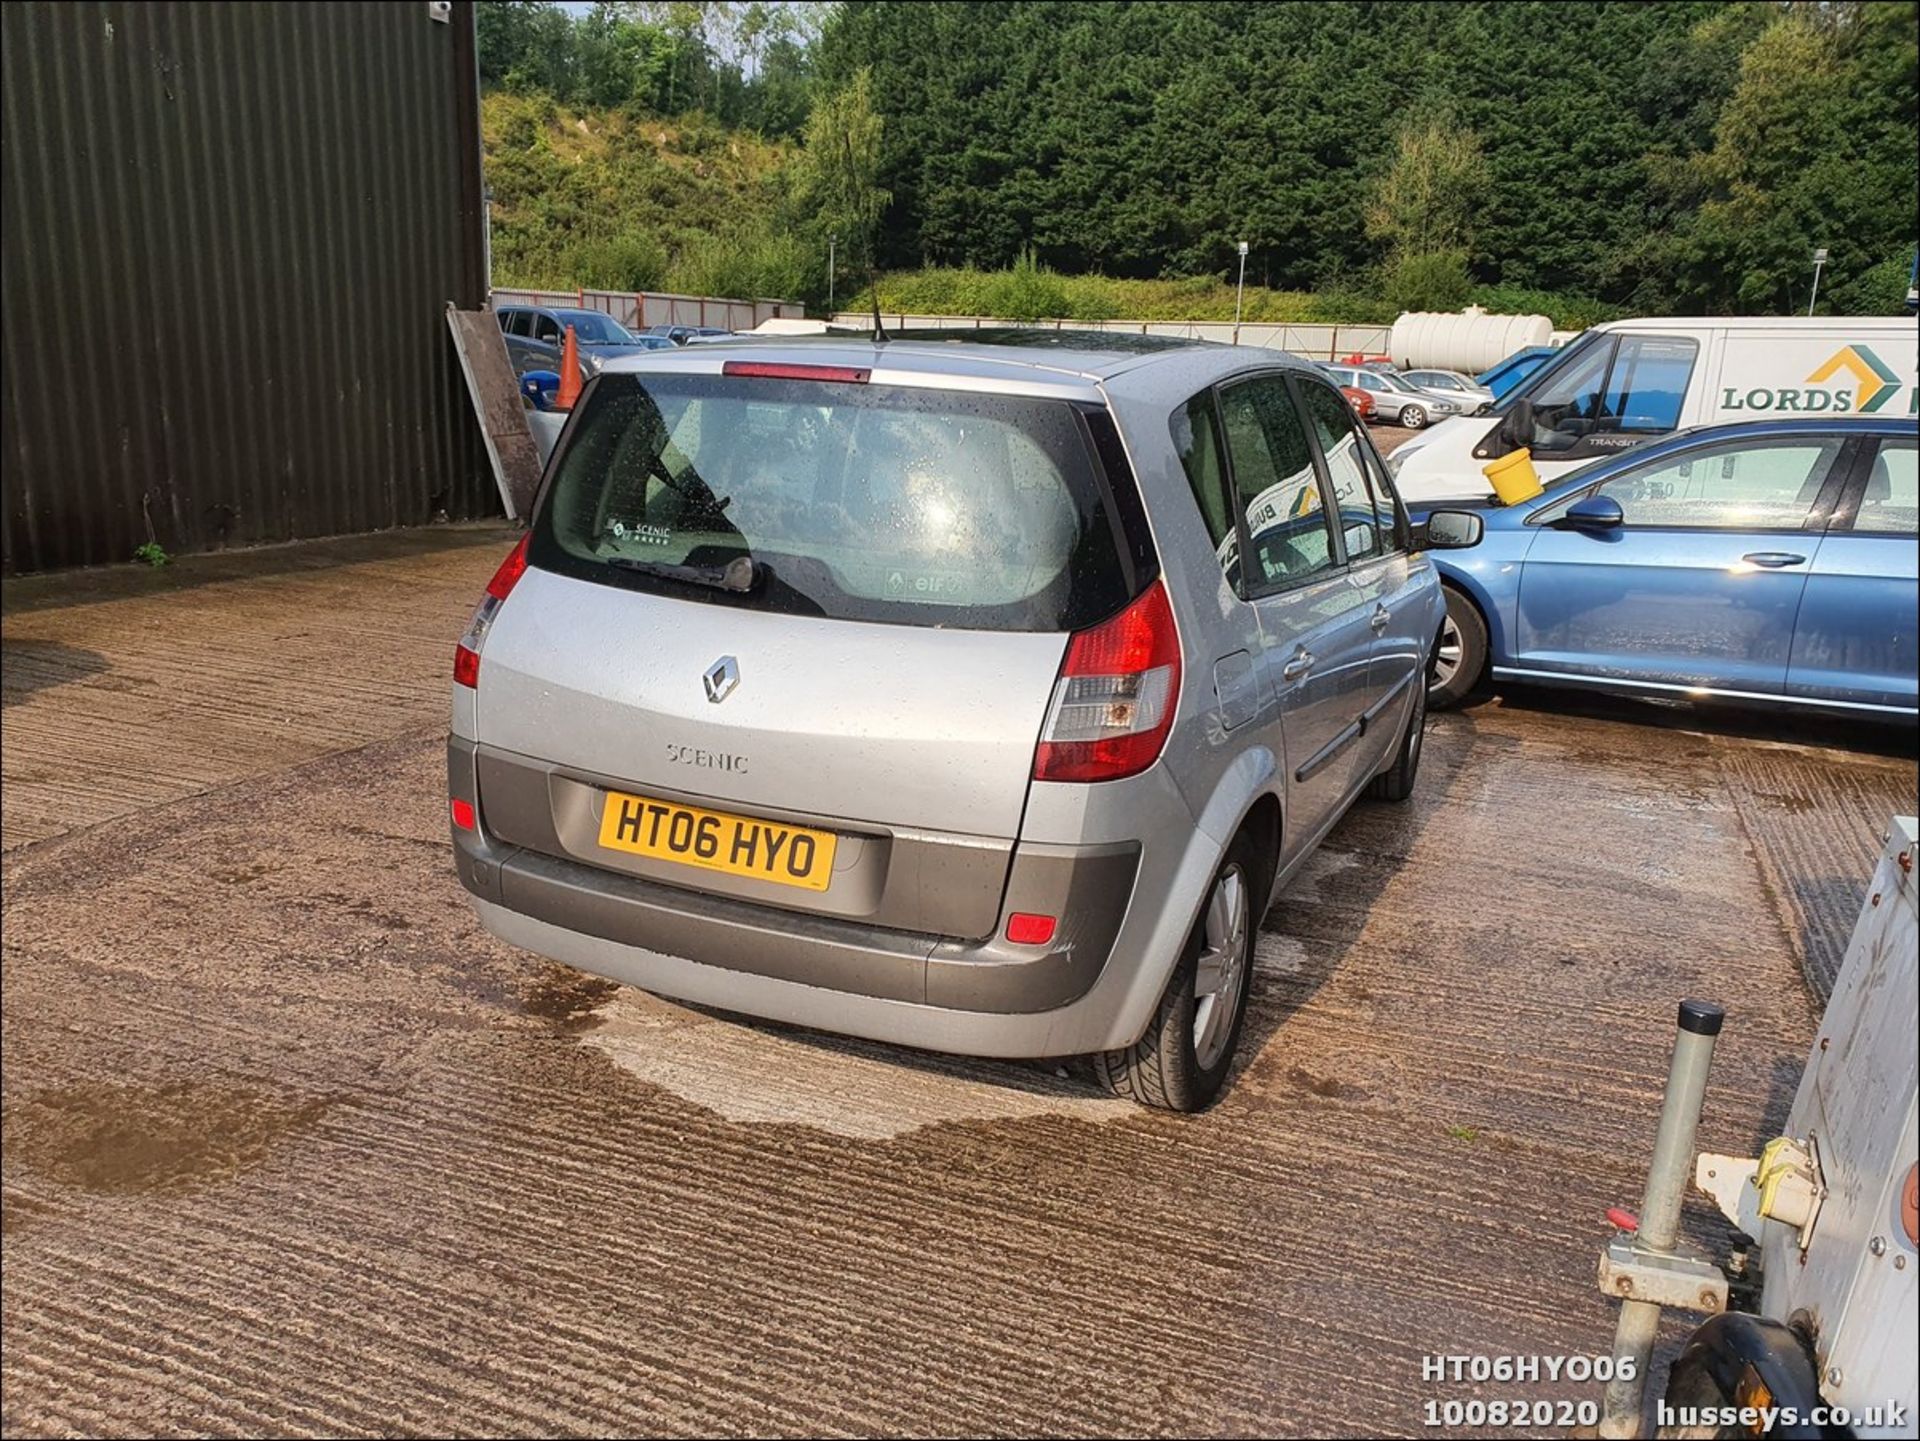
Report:
<svg viewBox="0 0 1920 1441"><path fill-rule="evenodd" d="M1373 627L1346 574L1308 422L1284 374L1221 388L1235 497L1236 579L1260 616L1261 689L1275 697L1273 750L1286 758L1286 844L1317 837L1367 768Z"/></svg>

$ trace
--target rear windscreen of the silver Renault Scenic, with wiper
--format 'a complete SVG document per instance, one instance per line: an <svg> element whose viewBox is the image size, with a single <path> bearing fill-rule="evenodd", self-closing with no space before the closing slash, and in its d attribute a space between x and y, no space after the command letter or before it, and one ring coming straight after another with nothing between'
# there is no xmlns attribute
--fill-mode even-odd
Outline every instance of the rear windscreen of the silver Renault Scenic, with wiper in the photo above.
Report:
<svg viewBox="0 0 1920 1441"><path fill-rule="evenodd" d="M753 610L1062 631L1129 599L1112 510L1066 401L609 374L528 562Z"/></svg>

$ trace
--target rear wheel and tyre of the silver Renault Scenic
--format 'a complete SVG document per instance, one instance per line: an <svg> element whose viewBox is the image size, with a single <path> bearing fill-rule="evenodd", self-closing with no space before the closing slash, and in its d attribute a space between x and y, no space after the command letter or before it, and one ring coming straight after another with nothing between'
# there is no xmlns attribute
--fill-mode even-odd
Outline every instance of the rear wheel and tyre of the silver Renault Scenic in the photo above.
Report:
<svg viewBox="0 0 1920 1441"><path fill-rule="evenodd" d="M1271 865L1254 840L1235 839L1146 1032L1125 1050L1092 1057L1108 1090L1160 1111L1204 1111L1213 1103L1246 1025L1254 936L1271 885Z"/></svg>

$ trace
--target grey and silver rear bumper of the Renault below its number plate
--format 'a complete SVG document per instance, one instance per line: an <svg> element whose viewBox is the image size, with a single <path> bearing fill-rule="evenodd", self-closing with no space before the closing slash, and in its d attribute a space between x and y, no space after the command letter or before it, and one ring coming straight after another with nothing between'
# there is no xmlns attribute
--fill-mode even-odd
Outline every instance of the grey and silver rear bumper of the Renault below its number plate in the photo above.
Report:
<svg viewBox="0 0 1920 1441"><path fill-rule="evenodd" d="M447 773L482 827L453 831L455 865L482 923L503 940L682 1000L935 1050L1052 1053L1020 1048L1031 1042L1006 1050L1008 1021L1039 1021L1096 986L1140 869L1133 842L1023 844L1002 911L1058 917L1052 942L1014 946L1000 929L987 940L941 938L505 844L486 831L472 743L447 743Z"/></svg>

